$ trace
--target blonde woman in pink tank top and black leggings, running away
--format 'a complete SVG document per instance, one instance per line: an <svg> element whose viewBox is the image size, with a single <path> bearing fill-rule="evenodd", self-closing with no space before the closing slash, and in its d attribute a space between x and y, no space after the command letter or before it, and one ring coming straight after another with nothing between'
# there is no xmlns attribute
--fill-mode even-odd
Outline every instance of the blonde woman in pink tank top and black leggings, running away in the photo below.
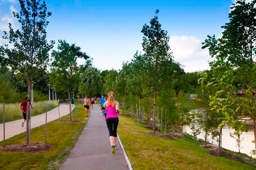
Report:
<svg viewBox="0 0 256 170"><path fill-rule="evenodd" d="M108 125L109 131L109 140L111 144L112 153L116 153L116 139L117 139L117 125L119 122L118 113L119 113L119 103L115 101L115 94L113 91L108 93L108 99L102 106L102 113L108 110L106 116L106 122Z"/></svg>

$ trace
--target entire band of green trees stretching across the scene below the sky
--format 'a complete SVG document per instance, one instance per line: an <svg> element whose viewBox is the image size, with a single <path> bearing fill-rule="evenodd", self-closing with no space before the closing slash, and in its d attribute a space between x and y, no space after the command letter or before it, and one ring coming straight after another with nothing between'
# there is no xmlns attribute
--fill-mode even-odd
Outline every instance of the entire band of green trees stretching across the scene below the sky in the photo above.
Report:
<svg viewBox="0 0 256 170"><path fill-rule="evenodd" d="M135 52L120 70L102 71L92 66L92 57L65 40L58 40L57 50L50 54L55 42L47 42L47 18L52 13L45 1L19 2L21 11L13 15L21 30L9 24L3 36L8 43L0 45L1 101L20 101L24 93L31 96L32 85L40 99L47 97L48 84L69 99L72 91L79 96L114 91L122 108L132 115L137 111L138 120L152 125L154 133L189 125L195 137L204 131L206 142L210 134L221 146L222 128L232 127L239 138L247 131L241 118L248 116L256 138L256 0L233 4L222 36L208 35L202 43L214 58L211 69L194 73L185 73L174 60L159 10L142 26L143 53ZM84 65L77 64L78 58ZM189 99L189 94L197 94L196 99Z"/></svg>

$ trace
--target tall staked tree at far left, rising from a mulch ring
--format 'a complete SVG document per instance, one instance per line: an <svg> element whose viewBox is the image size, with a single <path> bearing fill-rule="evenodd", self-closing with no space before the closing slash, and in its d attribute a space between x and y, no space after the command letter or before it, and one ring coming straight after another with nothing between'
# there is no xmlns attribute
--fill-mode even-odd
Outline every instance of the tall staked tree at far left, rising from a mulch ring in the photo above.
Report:
<svg viewBox="0 0 256 170"><path fill-rule="evenodd" d="M4 44L8 65L14 72L23 74L27 81L28 96L38 68L46 68L49 62L49 50L54 42L47 43L46 27L49 24L45 0L19 0L21 11L13 11L13 16L21 24L21 30L14 30L9 23L9 33L4 31L3 38L9 44ZM29 121L27 121L27 145L29 145Z"/></svg>

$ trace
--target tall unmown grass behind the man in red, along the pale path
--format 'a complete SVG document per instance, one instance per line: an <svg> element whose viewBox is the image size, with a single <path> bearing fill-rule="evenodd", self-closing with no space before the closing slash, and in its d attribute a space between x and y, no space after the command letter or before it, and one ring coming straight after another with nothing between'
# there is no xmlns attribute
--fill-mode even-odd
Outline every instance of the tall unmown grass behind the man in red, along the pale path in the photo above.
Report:
<svg viewBox="0 0 256 170"><path fill-rule="evenodd" d="M42 101L34 102L33 109L31 111L31 116L36 116L47 111L52 110L58 106L56 101ZM22 119L22 113L20 110L20 103L15 104L5 104L5 120L6 122ZM3 104L0 105L0 123L3 123Z"/></svg>

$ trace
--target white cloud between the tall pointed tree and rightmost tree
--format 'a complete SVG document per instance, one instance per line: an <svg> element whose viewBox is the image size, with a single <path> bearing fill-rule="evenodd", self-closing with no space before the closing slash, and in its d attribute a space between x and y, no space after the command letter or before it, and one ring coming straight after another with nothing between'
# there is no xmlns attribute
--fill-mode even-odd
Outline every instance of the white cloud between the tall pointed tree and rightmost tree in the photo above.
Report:
<svg viewBox="0 0 256 170"><path fill-rule="evenodd" d="M193 36L172 36L170 47L175 61L184 65L186 72L209 69L208 61L212 60L207 49L201 49L201 40Z"/></svg>

